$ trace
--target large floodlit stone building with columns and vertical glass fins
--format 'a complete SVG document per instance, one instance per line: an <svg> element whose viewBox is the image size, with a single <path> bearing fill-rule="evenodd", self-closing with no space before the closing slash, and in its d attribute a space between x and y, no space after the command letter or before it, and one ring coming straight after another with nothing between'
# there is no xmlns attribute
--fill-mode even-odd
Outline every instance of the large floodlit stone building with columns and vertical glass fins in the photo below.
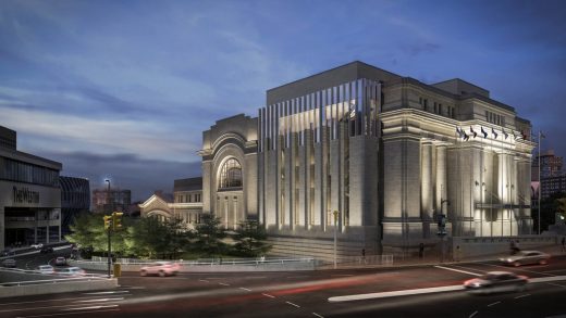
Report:
<svg viewBox="0 0 566 318"><path fill-rule="evenodd" d="M529 234L530 123L462 79L427 85L353 62L267 91L257 118L204 132L202 212L257 218L272 253L418 251Z"/></svg>

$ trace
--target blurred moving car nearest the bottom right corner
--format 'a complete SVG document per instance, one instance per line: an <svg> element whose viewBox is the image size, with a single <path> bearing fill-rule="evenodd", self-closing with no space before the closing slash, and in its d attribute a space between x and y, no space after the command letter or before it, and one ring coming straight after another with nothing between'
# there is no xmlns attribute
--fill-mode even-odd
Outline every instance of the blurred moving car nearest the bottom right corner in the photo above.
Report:
<svg viewBox="0 0 566 318"><path fill-rule="evenodd" d="M508 291L522 291L529 282L526 276L509 271L490 271L478 278L464 282L464 288L471 293L495 293Z"/></svg>

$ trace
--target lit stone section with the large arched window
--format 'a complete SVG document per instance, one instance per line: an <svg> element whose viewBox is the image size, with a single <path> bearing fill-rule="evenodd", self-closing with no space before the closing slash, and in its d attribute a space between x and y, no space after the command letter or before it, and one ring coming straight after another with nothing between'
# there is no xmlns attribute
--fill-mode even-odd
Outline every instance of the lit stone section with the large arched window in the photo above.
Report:
<svg viewBox="0 0 566 318"><path fill-rule="evenodd" d="M218 120L202 132L202 213L236 229L258 215L258 119L245 115Z"/></svg>

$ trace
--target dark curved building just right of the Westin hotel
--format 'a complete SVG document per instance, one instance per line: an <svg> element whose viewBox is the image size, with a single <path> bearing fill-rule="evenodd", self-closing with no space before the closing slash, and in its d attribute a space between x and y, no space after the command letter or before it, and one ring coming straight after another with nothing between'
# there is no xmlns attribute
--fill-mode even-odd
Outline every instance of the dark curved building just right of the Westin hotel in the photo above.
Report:
<svg viewBox="0 0 566 318"><path fill-rule="evenodd" d="M61 236L71 233L74 218L90 209L90 185L88 179L59 177L61 183Z"/></svg>

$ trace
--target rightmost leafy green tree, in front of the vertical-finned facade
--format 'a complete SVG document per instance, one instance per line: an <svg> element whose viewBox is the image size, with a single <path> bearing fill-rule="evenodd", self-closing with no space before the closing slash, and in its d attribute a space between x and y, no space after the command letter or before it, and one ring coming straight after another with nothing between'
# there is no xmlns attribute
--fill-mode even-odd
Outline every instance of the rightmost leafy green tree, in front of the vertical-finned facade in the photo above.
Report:
<svg viewBox="0 0 566 318"><path fill-rule="evenodd" d="M261 256L271 249L271 245L266 243L266 229L256 220L246 220L239 224L234 240L236 241L234 251L242 256Z"/></svg>

